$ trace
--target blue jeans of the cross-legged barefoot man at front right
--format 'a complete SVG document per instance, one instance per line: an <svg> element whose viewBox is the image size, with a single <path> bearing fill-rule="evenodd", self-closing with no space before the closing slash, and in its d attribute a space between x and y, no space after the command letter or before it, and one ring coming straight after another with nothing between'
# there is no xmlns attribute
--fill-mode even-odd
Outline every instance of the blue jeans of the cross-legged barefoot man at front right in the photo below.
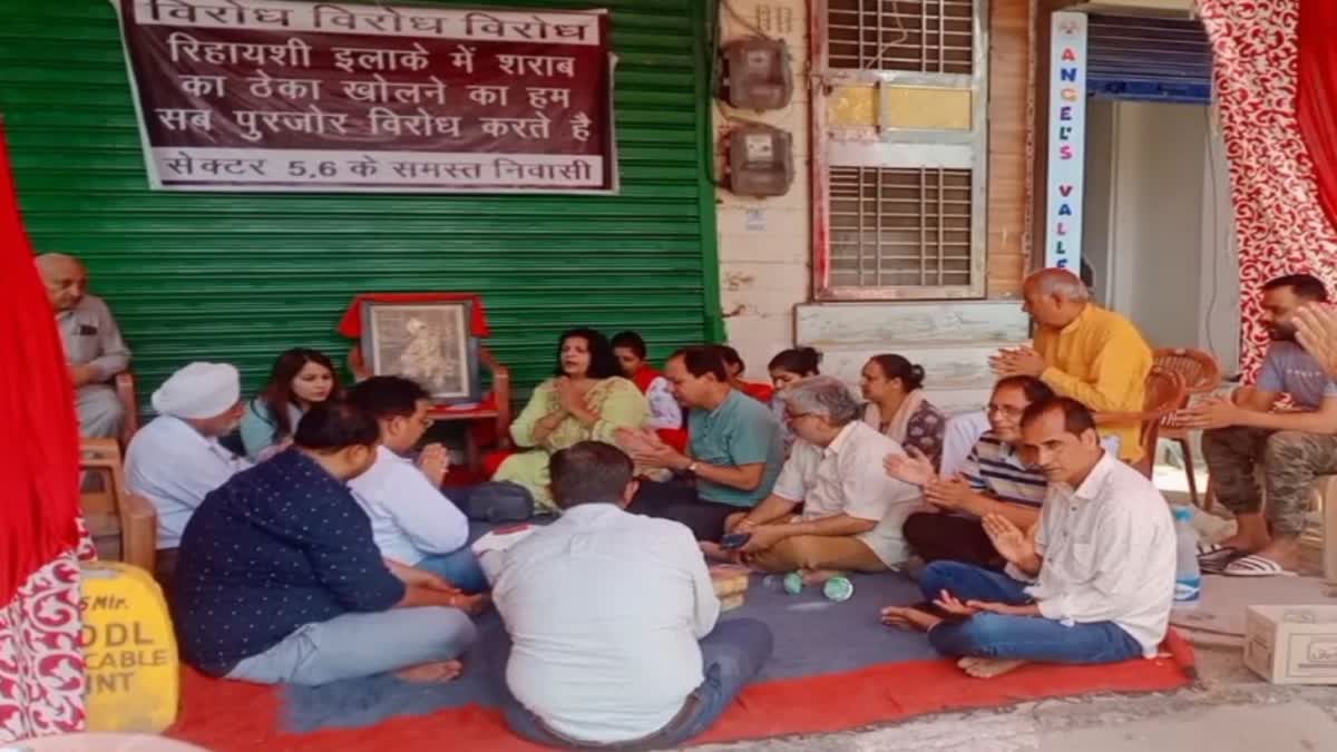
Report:
<svg viewBox="0 0 1337 752"><path fill-rule="evenodd" d="M920 575L924 597L943 590L960 601L992 601L1020 606L1031 602L1025 583L960 562L933 562ZM979 613L948 620L928 632L944 656L1015 658L1046 664L1115 664L1142 656L1142 644L1112 621L1063 625L1040 616Z"/></svg>

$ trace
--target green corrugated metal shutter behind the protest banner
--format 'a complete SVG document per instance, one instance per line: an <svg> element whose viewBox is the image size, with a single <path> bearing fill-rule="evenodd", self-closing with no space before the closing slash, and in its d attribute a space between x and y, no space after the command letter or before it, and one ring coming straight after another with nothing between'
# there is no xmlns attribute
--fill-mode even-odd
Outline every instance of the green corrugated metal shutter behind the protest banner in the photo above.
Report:
<svg viewBox="0 0 1337 752"><path fill-rule="evenodd" d="M39 252L87 262L142 392L191 360L233 363L247 388L289 347L341 361L334 326L358 292L480 293L521 393L570 326L639 329L656 356L722 328L702 0L507 3L610 8L615 197L150 191L112 5L0 5L24 219Z"/></svg>

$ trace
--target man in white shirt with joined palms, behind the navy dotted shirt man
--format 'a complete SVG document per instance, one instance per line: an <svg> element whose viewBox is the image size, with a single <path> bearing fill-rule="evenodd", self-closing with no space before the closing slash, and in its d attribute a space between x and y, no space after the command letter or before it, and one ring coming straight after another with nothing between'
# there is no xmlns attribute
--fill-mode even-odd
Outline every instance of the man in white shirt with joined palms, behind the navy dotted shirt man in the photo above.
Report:
<svg viewBox="0 0 1337 752"><path fill-rule="evenodd" d="M469 521L440 490L449 470L445 448L428 444L417 464L404 456L432 426L431 395L401 376L373 376L353 387L348 399L376 416L381 427L376 464L348 484L372 521L381 555L431 571L465 593L487 590L467 545Z"/></svg>

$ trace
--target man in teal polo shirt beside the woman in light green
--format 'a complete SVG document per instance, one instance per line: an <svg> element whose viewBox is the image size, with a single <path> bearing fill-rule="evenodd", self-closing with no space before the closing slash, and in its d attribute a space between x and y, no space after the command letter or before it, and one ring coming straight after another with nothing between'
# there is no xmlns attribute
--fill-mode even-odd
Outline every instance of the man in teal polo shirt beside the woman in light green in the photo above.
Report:
<svg viewBox="0 0 1337 752"><path fill-rule="evenodd" d="M730 514L770 495L785 466L779 421L769 407L729 385L715 348L675 352L664 364L664 377L678 401L691 408L689 454L647 435L630 442L632 459L640 467L671 470L687 482L643 483L627 508L682 522L698 541L719 541Z"/></svg>

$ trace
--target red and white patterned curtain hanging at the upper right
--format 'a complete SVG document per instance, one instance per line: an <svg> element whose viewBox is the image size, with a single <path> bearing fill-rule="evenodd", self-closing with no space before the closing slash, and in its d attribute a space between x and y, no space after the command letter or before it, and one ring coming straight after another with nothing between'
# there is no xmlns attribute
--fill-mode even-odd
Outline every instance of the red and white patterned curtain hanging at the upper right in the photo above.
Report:
<svg viewBox="0 0 1337 752"><path fill-rule="evenodd" d="M1324 213L1297 116L1301 5L1334 1L1198 0L1230 162L1246 376L1257 372L1267 347L1259 322L1263 282L1308 272L1337 290L1337 231ZM1332 37L1324 43L1334 44Z"/></svg>

